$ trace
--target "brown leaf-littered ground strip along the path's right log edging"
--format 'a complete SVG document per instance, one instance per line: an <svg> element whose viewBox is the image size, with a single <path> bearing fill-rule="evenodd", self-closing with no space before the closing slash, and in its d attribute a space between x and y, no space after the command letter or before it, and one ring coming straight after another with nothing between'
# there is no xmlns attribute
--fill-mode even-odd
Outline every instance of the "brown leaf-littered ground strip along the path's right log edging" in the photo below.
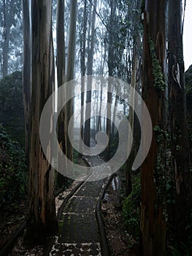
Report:
<svg viewBox="0 0 192 256"><path fill-rule="evenodd" d="M101 214L104 220L110 255L136 256L139 255L138 242L125 230L115 180L118 180L118 176L115 176L110 182L104 200L101 202Z"/></svg>

